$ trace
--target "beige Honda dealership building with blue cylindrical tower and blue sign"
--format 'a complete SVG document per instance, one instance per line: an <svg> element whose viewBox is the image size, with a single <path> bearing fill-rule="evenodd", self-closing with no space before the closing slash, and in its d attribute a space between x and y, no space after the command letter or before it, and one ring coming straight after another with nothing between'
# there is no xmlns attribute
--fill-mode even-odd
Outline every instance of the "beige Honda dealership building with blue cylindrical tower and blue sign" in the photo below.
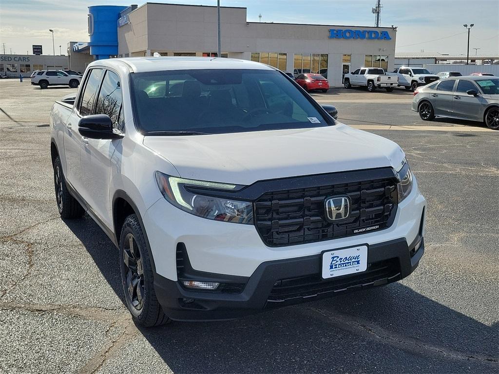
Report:
<svg viewBox="0 0 499 374"><path fill-rule="evenodd" d="M221 7L221 57L258 61L295 75L318 72L333 86L360 66L394 67L396 27L249 22L246 10ZM217 7L154 2L90 6L88 32L88 42L69 45L72 70L84 69L93 59L155 52L215 57Z"/></svg>

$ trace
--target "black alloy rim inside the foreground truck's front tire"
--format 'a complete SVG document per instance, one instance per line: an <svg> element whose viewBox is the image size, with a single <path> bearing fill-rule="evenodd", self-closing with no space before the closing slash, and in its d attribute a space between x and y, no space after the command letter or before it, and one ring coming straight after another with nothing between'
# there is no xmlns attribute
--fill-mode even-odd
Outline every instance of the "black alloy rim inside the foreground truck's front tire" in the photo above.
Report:
<svg viewBox="0 0 499 374"><path fill-rule="evenodd" d="M141 310L144 306L144 269L137 241L132 234L125 237L123 248L125 263L126 290L132 307Z"/></svg>

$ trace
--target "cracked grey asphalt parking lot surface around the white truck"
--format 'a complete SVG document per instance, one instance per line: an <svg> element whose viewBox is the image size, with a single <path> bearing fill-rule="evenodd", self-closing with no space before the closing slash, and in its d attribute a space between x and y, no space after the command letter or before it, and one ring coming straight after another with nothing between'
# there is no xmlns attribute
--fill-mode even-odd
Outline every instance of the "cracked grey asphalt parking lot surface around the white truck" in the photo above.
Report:
<svg viewBox="0 0 499 374"><path fill-rule="evenodd" d="M424 122L412 93L313 94L394 140L428 200L408 278L240 320L137 328L118 250L60 219L48 113L69 88L0 81L1 373L499 373L499 132Z"/></svg>

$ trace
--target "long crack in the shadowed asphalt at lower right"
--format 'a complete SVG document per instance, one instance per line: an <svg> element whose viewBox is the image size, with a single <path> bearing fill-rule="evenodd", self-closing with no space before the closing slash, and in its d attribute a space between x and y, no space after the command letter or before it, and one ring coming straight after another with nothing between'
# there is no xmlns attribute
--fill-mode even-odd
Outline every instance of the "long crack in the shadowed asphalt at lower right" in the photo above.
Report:
<svg viewBox="0 0 499 374"><path fill-rule="evenodd" d="M379 326L373 326L373 325L368 326L368 322L361 323L359 320L353 320L353 316L341 315L339 313L332 315L325 313L324 311L318 308L310 308L310 307L296 307L296 308L318 313L321 316L324 316L327 319L331 320L335 325L338 325L341 329L348 330L353 333L361 332L363 333L364 336L370 339L382 340L383 342L387 342L388 344L396 348L401 348L400 346L403 346L405 347L406 350L409 351L416 349L417 351L424 351L427 353L443 355L447 358L456 359L456 360L474 360L491 364L499 362L499 360L492 357L467 355L462 352L454 351L444 347L426 344L419 340L412 339L410 337L406 336L401 337L397 334L390 333ZM345 329L345 326L348 326L349 328Z"/></svg>

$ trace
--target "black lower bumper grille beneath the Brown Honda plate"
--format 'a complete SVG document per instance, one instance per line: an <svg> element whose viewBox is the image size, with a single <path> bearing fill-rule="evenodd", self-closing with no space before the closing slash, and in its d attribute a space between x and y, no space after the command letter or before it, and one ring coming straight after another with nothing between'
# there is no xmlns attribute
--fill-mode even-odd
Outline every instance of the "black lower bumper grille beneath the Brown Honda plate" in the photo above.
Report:
<svg viewBox="0 0 499 374"><path fill-rule="evenodd" d="M319 274L299 278L282 279L275 282L267 298L267 308L282 303L302 301L304 298L326 297L333 293L353 291L362 287L379 286L398 280L400 267L397 259L369 264L366 271L337 278L322 279ZM287 303L286 303L287 302Z"/></svg>

